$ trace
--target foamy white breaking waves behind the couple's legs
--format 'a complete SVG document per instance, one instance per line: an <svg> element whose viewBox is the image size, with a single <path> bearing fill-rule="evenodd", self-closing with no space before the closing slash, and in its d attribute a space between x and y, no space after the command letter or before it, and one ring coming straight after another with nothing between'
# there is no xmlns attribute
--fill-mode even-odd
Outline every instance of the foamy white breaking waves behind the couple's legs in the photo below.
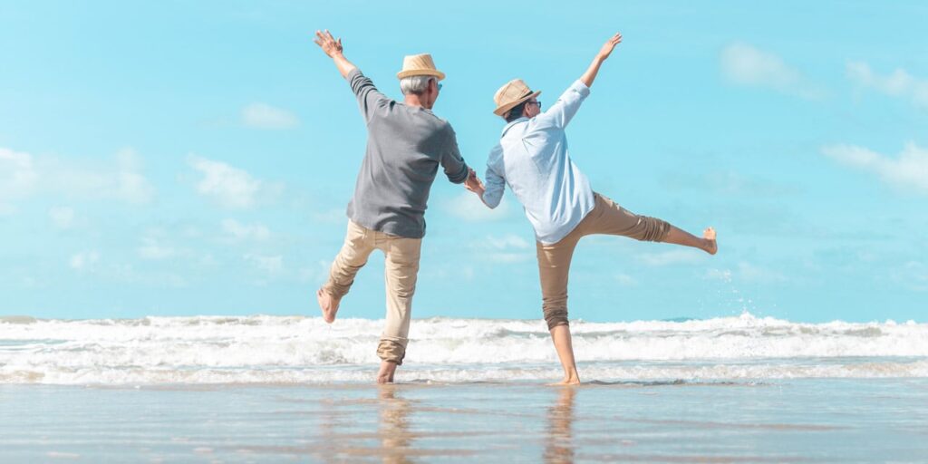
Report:
<svg viewBox="0 0 928 464"><path fill-rule="evenodd" d="M370 381L382 321L193 316L0 317L0 384ZM928 324L708 320L572 322L582 380L928 378ZM414 320L398 381L557 380L540 320Z"/></svg>

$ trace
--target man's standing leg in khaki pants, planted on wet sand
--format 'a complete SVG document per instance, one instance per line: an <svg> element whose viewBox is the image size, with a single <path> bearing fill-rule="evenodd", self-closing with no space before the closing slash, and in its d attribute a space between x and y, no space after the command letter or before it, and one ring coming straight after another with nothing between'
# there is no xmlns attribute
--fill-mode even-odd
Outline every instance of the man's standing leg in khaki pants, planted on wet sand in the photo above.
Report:
<svg viewBox="0 0 928 464"><path fill-rule="evenodd" d="M378 247L386 255L383 275L387 292L387 324L377 347L381 359L377 381L388 383L393 381L396 367L402 365L406 357L409 317L412 313L412 297L416 293L422 239L386 234L379 234L378 237L379 242L383 238L382 245L379 243Z"/></svg>

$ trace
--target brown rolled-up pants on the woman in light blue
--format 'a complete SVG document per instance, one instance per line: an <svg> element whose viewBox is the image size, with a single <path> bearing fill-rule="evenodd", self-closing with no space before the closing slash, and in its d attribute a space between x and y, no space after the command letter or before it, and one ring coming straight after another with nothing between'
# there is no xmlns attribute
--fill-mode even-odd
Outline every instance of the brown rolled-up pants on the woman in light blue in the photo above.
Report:
<svg viewBox="0 0 928 464"><path fill-rule="evenodd" d="M538 274L541 277L542 310L548 329L566 326L567 275L580 238L592 234L619 235L645 241L664 241L670 232L666 222L639 216L619 206L599 193L594 193L596 205L574 230L561 241L550 245L535 243L538 253Z"/></svg>

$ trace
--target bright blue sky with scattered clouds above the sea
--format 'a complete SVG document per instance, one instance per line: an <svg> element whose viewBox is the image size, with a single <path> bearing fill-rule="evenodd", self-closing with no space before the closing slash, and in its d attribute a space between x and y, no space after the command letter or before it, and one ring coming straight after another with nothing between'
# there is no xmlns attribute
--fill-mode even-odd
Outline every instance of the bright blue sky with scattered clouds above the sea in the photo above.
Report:
<svg viewBox="0 0 928 464"><path fill-rule="evenodd" d="M514 77L549 104L613 32L568 130L595 190L720 252L585 238L594 321L914 319L928 310L928 40L916 2L0 2L0 315L317 315L364 155L328 28L483 173ZM414 317L540 317L531 227L442 176ZM382 317L375 255L341 316Z"/></svg>

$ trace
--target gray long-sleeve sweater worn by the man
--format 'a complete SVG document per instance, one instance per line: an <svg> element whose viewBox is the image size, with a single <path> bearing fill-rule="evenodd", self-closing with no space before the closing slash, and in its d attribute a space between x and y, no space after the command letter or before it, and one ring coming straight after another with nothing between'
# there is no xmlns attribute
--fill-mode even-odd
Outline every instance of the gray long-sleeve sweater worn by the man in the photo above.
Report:
<svg viewBox="0 0 928 464"><path fill-rule="evenodd" d="M438 166L448 180L467 180L469 168L451 124L431 110L381 94L355 69L347 76L367 122L367 153L348 203L360 226L407 238L425 236L425 209Z"/></svg>

